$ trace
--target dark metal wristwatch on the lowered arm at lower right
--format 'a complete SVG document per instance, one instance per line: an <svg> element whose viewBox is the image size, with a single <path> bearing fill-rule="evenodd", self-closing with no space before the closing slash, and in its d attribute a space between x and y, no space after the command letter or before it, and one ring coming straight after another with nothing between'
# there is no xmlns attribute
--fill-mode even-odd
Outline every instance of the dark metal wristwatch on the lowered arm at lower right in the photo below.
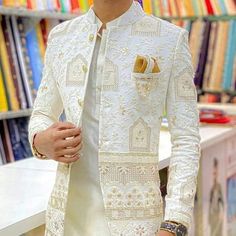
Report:
<svg viewBox="0 0 236 236"><path fill-rule="evenodd" d="M161 223L160 229L173 233L176 236L187 236L187 227L176 221L166 220Z"/></svg>

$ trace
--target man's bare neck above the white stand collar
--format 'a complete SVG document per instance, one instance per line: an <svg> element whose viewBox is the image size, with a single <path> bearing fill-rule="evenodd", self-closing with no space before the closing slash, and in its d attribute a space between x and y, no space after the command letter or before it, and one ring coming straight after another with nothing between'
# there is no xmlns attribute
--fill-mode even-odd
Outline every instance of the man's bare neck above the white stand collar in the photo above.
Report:
<svg viewBox="0 0 236 236"><path fill-rule="evenodd" d="M106 24L125 13L133 0L94 0L93 10L97 17Z"/></svg>

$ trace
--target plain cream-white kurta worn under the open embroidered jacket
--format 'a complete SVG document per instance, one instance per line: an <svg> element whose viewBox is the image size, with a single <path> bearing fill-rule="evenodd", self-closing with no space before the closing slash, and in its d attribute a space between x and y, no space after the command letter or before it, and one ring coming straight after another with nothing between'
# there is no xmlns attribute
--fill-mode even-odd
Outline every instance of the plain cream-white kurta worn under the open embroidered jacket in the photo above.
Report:
<svg viewBox="0 0 236 236"><path fill-rule="evenodd" d="M106 24L102 35L97 40L89 71L87 91L84 100L82 117L82 156L72 168L71 183L68 195L68 208L65 217L65 236L109 236L109 229L104 214L104 204L98 171L98 134L101 78L106 49L106 35L109 28L115 25L120 16ZM102 26L95 18L98 31Z"/></svg>

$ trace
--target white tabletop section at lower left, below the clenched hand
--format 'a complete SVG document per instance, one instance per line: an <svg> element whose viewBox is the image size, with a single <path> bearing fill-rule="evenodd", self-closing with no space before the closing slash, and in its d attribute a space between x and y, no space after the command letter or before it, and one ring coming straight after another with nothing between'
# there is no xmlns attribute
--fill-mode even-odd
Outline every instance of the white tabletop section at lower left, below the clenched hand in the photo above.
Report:
<svg viewBox="0 0 236 236"><path fill-rule="evenodd" d="M44 224L56 162L28 158L0 167L0 235L16 236Z"/></svg>

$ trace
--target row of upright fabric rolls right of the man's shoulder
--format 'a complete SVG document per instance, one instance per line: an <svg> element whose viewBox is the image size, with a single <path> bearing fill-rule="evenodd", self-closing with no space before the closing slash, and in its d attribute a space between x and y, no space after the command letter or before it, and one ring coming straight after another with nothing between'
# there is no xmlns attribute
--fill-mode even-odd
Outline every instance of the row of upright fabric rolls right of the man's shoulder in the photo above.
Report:
<svg viewBox="0 0 236 236"><path fill-rule="evenodd" d="M190 48L198 88L236 89L236 43L233 42L236 42L236 20L191 23Z"/></svg>

